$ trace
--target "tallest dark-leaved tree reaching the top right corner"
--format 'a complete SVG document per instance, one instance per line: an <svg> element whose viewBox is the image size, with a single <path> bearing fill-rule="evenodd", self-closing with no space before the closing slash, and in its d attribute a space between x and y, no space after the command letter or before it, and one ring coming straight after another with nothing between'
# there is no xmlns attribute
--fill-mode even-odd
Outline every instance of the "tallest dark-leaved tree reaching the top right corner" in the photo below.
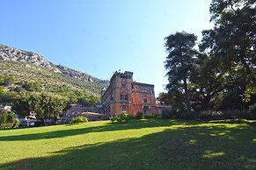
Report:
<svg viewBox="0 0 256 170"><path fill-rule="evenodd" d="M256 9L252 0L213 0L210 5L212 30L203 31L201 52L218 60L222 73L245 84L246 93L255 93ZM235 85L235 84L234 84Z"/></svg>

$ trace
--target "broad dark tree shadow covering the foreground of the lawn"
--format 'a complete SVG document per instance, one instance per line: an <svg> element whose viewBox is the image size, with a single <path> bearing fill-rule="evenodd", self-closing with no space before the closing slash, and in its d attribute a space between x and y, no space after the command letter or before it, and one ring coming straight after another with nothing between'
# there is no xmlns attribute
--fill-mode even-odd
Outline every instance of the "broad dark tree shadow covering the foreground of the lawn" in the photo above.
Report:
<svg viewBox="0 0 256 170"><path fill-rule="evenodd" d="M187 126L142 138L68 147L3 169L256 169L256 130Z"/></svg>

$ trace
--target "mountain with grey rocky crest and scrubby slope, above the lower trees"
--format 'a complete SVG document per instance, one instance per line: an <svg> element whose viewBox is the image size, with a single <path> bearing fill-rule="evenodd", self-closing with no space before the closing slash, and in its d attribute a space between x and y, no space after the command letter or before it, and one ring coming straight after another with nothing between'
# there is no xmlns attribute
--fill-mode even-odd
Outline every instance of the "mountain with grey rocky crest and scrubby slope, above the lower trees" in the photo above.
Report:
<svg viewBox="0 0 256 170"><path fill-rule="evenodd" d="M15 79L15 83L5 85L4 79L2 80L0 86L4 86L5 91L33 91L27 87L36 85L39 91L99 96L101 89L109 84L109 81L100 80L90 74L55 65L38 53L1 44L0 74L2 77L12 76Z"/></svg>

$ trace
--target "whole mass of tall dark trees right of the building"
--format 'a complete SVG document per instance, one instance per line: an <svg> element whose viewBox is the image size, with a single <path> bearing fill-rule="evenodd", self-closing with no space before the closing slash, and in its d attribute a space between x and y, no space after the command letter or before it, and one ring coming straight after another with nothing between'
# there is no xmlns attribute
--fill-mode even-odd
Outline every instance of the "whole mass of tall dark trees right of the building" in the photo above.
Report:
<svg viewBox="0 0 256 170"><path fill-rule="evenodd" d="M255 5L252 0L212 0L215 26L202 32L199 52L194 51L196 39L189 41L186 32L165 38L172 108L182 110L190 103L193 110L246 109L256 103Z"/></svg>

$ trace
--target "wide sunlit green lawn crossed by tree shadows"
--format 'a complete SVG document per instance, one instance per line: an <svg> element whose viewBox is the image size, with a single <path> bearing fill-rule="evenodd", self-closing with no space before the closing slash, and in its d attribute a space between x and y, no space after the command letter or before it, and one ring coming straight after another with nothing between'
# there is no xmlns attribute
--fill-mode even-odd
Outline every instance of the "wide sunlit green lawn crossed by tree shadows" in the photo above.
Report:
<svg viewBox="0 0 256 170"><path fill-rule="evenodd" d="M0 131L0 169L256 169L256 128L164 119Z"/></svg>

